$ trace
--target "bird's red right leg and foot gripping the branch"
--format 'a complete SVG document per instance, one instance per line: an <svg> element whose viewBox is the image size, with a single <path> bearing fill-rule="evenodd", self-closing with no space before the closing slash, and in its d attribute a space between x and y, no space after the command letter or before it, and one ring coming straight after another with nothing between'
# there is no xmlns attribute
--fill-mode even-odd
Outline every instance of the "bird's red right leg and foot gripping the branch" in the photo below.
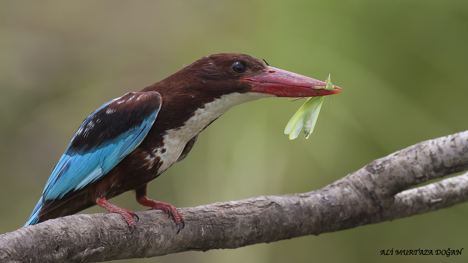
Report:
<svg viewBox="0 0 468 263"><path fill-rule="evenodd" d="M163 202L158 202L154 201L152 199L149 199L146 197L146 184L144 186L140 186L135 190L135 196L137 198L137 202L140 205L144 206L149 206L151 207L148 210L164 210L164 212L168 213L168 216L170 217L171 214L174 217L174 220L176 221L177 225L177 234L180 232L182 228L185 227L185 222L183 221L183 216L182 214L177 210L176 207L174 207L171 204L166 204Z"/></svg>

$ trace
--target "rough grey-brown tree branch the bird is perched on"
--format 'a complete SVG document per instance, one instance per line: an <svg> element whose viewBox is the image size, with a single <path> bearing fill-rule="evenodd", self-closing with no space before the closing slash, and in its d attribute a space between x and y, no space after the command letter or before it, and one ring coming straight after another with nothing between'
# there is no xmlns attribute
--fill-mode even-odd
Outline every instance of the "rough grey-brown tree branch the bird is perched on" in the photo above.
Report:
<svg viewBox="0 0 468 263"><path fill-rule="evenodd" d="M101 262L188 250L239 248L409 217L468 200L468 131L410 146L303 194L181 208L185 228L161 211L137 212L139 235L118 214L51 219L0 235L0 262Z"/></svg>

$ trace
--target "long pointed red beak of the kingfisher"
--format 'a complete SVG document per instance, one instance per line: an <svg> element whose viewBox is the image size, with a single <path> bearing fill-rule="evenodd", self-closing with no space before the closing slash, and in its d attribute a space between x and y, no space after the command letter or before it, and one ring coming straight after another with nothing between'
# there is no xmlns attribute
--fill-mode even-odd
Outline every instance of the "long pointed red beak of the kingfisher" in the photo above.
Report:
<svg viewBox="0 0 468 263"><path fill-rule="evenodd" d="M340 93L341 90L340 87L335 85L333 85L334 90L312 88L317 86L325 87L327 83L274 67L240 81L253 84L254 88L250 90L252 92L274 94L278 97L317 97Z"/></svg>

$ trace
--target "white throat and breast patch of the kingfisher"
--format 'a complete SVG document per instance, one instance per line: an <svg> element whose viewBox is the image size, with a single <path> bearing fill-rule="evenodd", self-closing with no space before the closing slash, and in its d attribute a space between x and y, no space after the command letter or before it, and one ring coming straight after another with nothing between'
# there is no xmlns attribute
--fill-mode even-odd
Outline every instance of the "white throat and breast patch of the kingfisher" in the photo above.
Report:
<svg viewBox="0 0 468 263"><path fill-rule="evenodd" d="M180 129L171 129L163 136L165 153L160 153L159 149L155 149L155 155L160 156L163 161L158 173L161 174L176 162L185 144L227 110L235 105L266 97L276 97L276 95L259 92L231 93L206 103L205 108L197 109L195 115L190 117Z"/></svg>

